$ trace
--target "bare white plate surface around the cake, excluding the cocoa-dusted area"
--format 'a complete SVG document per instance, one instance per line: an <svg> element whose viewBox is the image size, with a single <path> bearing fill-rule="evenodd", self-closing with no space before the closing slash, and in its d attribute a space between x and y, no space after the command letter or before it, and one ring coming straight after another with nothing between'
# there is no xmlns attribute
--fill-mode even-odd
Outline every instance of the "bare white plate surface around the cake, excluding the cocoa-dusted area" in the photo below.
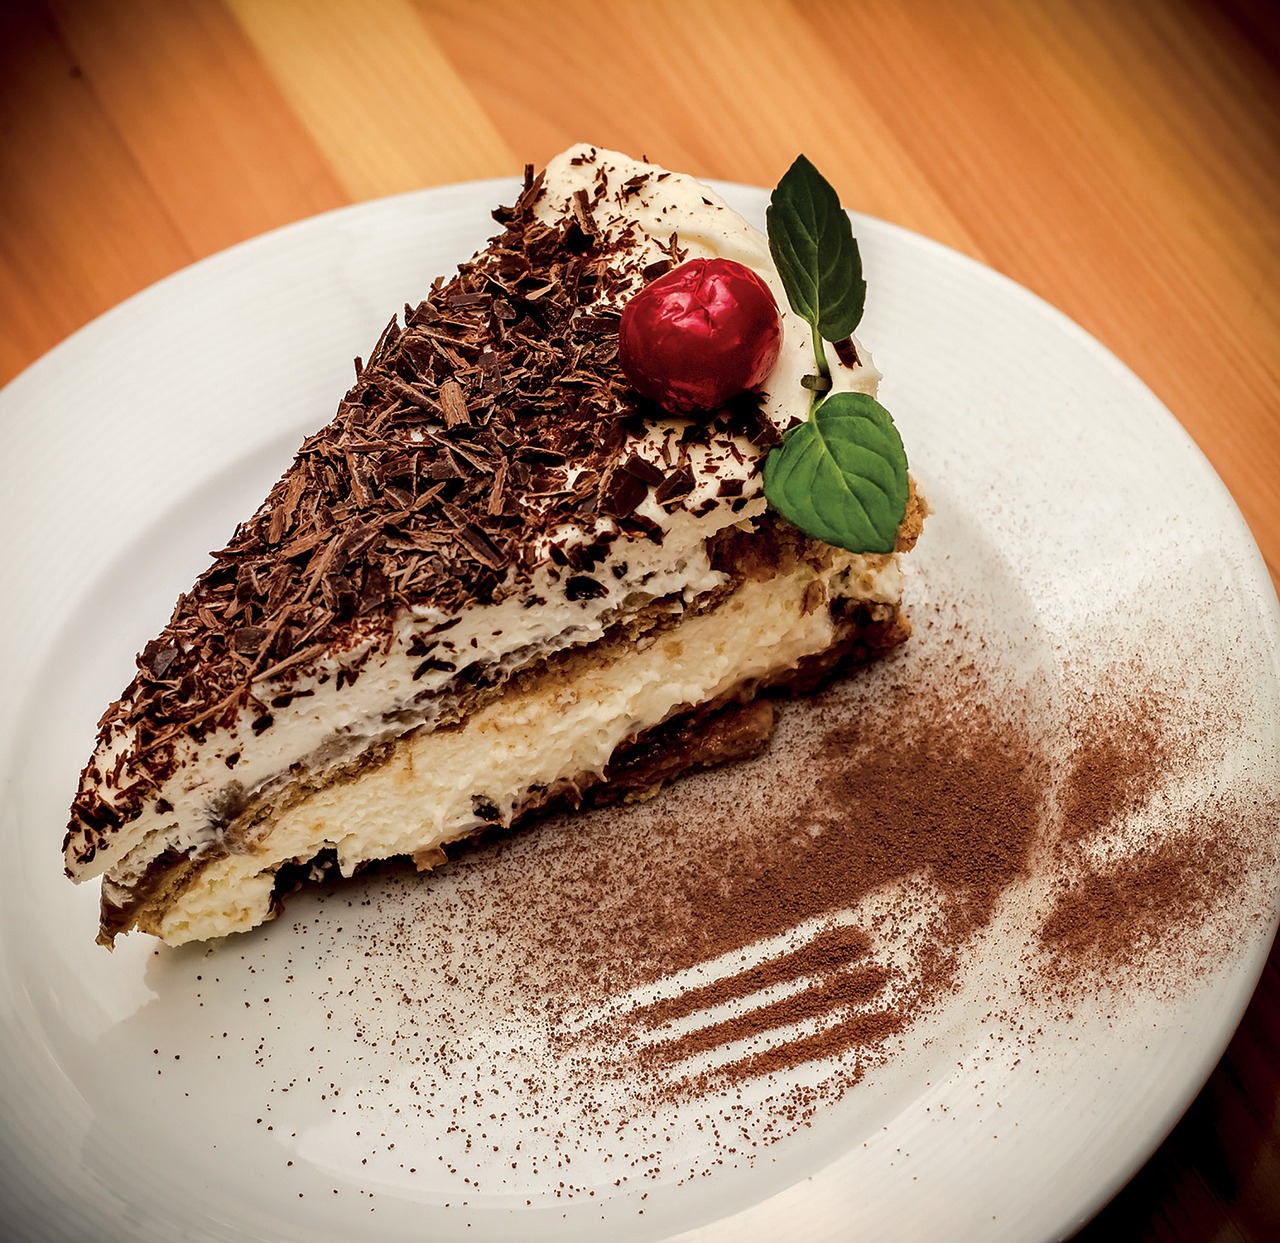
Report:
<svg viewBox="0 0 1280 1243"><path fill-rule="evenodd" d="M763 219L763 192L726 193ZM972 947L955 996L812 1125L726 1159L698 1119L673 1115L622 1179L599 1142L584 1155L572 1137L548 1138L554 1105L508 1116L516 1093L484 1059L466 1091L461 1063L434 1088L419 1082L431 1074L430 1022L406 1027L388 978L361 963L374 947L390 981L402 970L443 1010L467 983L426 981L380 943L403 887L375 879L366 908L358 887L302 899L293 922L211 952L138 936L113 955L93 945L96 895L63 878L59 846L97 714L206 552L328 417L349 360L477 248L490 209L512 197L506 182L449 187L259 238L102 316L0 394L5 1229L104 1240L1070 1233L1156 1147L1239 1020L1274 931L1265 840L1216 913L1243 931L1190 983L1135 977L1070 1016L1042 1010L1018 986L1010 946L1027 906L1014 902ZM1192 809L1252 800L1274 824L1276 600L1201 454L1120 362L1034 296L886 224L859 220L859 236L861 335L936 511L915 554L918 616L960 602L992 668L1038 687L1047 717L1073 686L1135 662L1176 670L1206 703L1230 699L1212 766L1183 773L1178 798ZM920 652L934 630L919 629ZM445 913L460 900L451 883ZM458 952L465 966L497 947ZM498 1018L485 1027L477 998L467 1005L467 1034L500 1039ZM372 1038L370 1024L401 1041ZM484 1111L467 1091L486 1095ZM517 1144L532 1153L502 1179L494 1157L460 1143L465 1133L483 1147L489 1101L499 1165ZM570 1152L579 1164L558 1191Z"/></svg>

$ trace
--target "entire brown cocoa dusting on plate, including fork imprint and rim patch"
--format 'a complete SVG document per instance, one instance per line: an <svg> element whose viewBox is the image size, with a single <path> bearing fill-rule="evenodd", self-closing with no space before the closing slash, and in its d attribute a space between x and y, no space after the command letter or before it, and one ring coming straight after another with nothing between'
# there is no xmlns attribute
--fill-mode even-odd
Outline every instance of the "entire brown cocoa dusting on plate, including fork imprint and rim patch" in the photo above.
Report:
<svg viewBox="0 0 1280 1243"><path fill-rule="evenodd" d="M1220 758L1203 705L1146 676L1009 677L922 612L899 654L783 704L758 759L291 906L333 1046L383 1068L326 1102L380 1176L422 1185L430 1161L460 1196L644 1212L645 1188L856 1118L869 1075L945 1075L948 1007L992 961L984 1038L1025 1052L1239 943L1224 913L1271 865L1276 806L1183 798ZM300 1091L273 1082L266 1112Z"/></svg>

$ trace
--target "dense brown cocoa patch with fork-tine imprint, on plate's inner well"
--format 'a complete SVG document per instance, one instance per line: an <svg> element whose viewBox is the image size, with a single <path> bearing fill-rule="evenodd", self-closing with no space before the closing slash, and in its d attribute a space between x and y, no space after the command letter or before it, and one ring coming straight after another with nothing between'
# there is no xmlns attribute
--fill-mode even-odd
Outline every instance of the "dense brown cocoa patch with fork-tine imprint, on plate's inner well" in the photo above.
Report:
<svg viewBox="0 0 1280 1243"><path fill-rule="evenodd" d="M831 707L819 703L817 710ZM896 687L882 705L883 719L827 730L808 766L776 774L765 818L709 842L680 877L680 900L649 908L634 924L627 955L643 979L669 977L814 920L849 918L870 895L924 877L937 895L934 929L942 940L920 956L916 975L904 979L901 969L879 963L855 966L874 942L867 931L837 924L801 950L655 1006L663 1015L694 1001L708 1010L788 978L812 981L663 1046L649 1069L803 1020L826 1025L794 1041L771 1039L717 1078L865 1050L947 990L956 949L1027 867L1044 766L1025 728L1001 721L979 699L959 716L942 708L931 695ZM717 900L708 902L710 892ZM883 913L879 933L897 919ZM884 1001L891 981L901 991L892 1004Z"/></svg>

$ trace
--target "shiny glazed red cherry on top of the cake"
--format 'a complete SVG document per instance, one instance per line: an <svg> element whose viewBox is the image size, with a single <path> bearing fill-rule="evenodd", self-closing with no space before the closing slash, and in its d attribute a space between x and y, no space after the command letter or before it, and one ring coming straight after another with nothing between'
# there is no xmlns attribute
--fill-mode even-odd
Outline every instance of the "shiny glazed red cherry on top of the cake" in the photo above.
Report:
<svg viewBox="0 0 1280 1243"><path fill-rule="evenodd" d="M718 410L759 388L778 361L782 319L769 287L730 259L691 259L622 311L618 365L664 410Z"/></svg>

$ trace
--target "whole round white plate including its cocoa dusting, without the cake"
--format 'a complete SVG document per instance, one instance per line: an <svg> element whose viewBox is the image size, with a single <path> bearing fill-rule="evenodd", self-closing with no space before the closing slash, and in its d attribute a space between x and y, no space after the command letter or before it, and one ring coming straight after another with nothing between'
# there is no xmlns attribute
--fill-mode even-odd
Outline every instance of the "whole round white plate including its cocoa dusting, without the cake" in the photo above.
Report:
<svg viewBox="0 0 1280 1243"><path fill-rule="evenodd" d="M723 191L763 221L763 191ZM1132 373L877 220L860 337L933 507L900 658L644 806L300 895L214 947L93 943L96 886L59 846L97 713L349 360L515 192L257 238L0 393L6 1226L1069 1234L1176 1121L1266 960L1280 617ZM721 951L663 958L659 924Z"/></svg>

